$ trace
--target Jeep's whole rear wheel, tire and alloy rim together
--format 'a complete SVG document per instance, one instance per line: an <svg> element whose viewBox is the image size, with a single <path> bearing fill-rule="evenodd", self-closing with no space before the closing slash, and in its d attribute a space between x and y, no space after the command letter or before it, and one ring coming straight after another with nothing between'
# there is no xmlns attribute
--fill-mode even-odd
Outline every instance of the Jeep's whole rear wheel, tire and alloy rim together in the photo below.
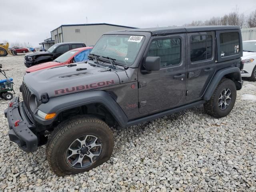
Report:
<svg viewBox="0 0 256 192"><path fill-rule="evenodd" d="M230 79L223 79L216 87L212 97L204 104L207 114L216 118L227 116L236 102L236 85Z"/></svg>

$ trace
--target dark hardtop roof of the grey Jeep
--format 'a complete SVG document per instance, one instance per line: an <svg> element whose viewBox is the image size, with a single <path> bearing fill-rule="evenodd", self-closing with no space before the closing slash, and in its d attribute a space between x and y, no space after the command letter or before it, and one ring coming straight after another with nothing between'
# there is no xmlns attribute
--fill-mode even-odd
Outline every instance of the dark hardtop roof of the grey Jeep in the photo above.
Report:
<svg viewBox="0 0 256 192"><path fill-rule="evenodd" d="M234 30L240 29L240 26L188 26L188 27L157 27L157 28L137 28L121 31L133 32L150 32L152 35L163 35L172 33L183 32L202 32L202 31L215 31L215 30Z"/></svg>

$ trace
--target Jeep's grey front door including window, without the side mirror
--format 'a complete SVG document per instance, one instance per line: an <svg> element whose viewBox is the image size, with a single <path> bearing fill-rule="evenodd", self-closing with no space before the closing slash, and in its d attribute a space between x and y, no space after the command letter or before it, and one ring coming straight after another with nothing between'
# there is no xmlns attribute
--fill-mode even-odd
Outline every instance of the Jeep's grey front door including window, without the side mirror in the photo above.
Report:
<svg viewBox="0 0 256 192"><path fill-rule="evenodd" d="M146 56L160 56L159 71L138 72L139 112L165 110L180 103L186 92L185 34L152 37ZM145 59L144 59L145 60ZM141 64L141 68L143 68Z"/></svg>

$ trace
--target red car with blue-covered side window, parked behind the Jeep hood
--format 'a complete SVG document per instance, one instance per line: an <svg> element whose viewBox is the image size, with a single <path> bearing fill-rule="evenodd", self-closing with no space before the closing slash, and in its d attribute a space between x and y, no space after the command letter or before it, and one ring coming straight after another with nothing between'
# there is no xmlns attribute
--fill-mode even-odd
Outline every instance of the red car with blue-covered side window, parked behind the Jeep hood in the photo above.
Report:
<svg viewBox="0 0 256 192"><path fill-rule="evenodd" d="M81 47L81 48L76 48L72 49L61 56L57 57L55 60L34 65L26 70L26 73L38 71L41 69L46 69L46 68L51 68L51 67L56 67L60 65L66 65L70 63L75 63L75 62L82 62L88 60L88 54L92 50L92 47Z"/></svg>

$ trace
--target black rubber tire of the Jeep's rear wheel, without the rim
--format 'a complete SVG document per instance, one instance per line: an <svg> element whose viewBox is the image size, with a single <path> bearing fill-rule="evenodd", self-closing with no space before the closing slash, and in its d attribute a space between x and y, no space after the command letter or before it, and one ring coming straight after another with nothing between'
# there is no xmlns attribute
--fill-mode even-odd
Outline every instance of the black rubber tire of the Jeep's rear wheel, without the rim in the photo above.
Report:
<svg viewBox="0 0 256 192"><path fill-rule="evenodd" d="M219 105L219 97L220 97L221 92L224 89L230 89L231 101L225 110L221 110L218 106ZM207 114L214 116L215 118L222 118L224 116L227 116L231 112L231 110L234 107L235 102L236 102L236 85L230 79L222 79L220 81L220 83L218 84L218 86L216 87L210 100L204 104L204 111Z"/></svg>

